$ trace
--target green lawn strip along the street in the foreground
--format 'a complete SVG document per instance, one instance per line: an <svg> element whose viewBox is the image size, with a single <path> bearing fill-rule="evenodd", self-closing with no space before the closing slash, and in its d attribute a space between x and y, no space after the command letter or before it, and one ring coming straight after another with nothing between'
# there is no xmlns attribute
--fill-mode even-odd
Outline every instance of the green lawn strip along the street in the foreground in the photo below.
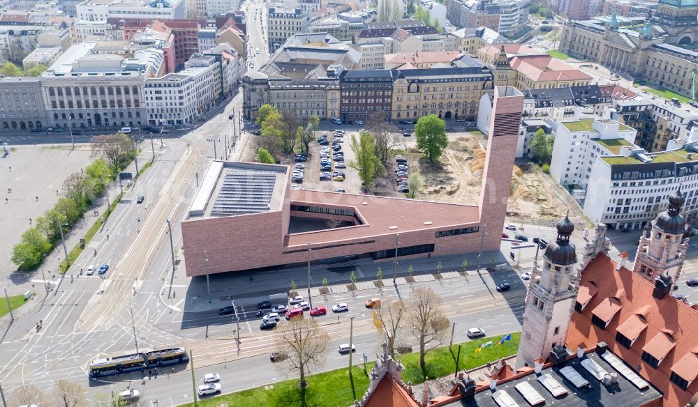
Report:
<svg viewBox="0 0 698 407"><path fill-rule="evenodd" d="M505 341L503 345L497 345L498 340L505 335L466 341L461 343L461 358L459 370L473 369L482 366L487 362L494 362L505 356L514 355L519 348L519 337L521 332L512 333L512 340ZM482 348L482 351L475 352L480 344L493 341L494 345L489 348ZM433 349L426 354L426 376L438 378L452 375L456 368L456 355L458 344L454 344L452 351L448 346ZM414 384L424 382L424 372L419 368L419 353L408 353L399 356L405 369L402 373L402 380ZM373 368L373 362L366 364L364 371L363 364L359 362L360 356L354 356L355 366L353 369L354 387L357 399L360 399L366 389L369 388L368 372ZM271 365L269 369L275 369ZM225 394L219 397L212 397L198 402L198 406L217 407L227 404L232 407L246 406L267 406L267 407L287 407L287 406L307 406L307 407L336 407L349 406L354 401L349 381L349 369L336 369L314 374L306 379L310 387L302 394L297 383L298 379L290 379L274 383L272 389L265 389L265 386L255 387L250 390ZM186 404L193 406L193 404Z"/></svg>

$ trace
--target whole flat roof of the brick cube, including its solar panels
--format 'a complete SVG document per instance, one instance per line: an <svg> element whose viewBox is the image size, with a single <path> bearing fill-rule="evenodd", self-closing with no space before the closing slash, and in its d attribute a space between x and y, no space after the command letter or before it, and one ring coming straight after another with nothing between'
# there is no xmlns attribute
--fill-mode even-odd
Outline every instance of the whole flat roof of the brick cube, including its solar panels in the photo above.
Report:
<svg viewBox="0 0 698 407"><path fill-rule="evenodd" d="M213 161L202 178L189 219L281 210L285 165Z"/></svg>

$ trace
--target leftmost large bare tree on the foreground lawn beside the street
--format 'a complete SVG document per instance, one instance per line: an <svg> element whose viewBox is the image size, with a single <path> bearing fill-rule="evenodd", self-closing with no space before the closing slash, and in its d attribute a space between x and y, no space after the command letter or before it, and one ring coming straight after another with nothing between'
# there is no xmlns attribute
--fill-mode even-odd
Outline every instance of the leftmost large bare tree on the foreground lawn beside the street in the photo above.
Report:
<svg viewBox="0 0 698 407"><path fill-rule="evenodd" d="M285 365L300 374L301 388L308 386L305 376L310 373L310 369L325 362L328 342L329 335L322 331L313 318L291 318L281 328L281 333L276 338L276 348L288 355Z"/></svg>

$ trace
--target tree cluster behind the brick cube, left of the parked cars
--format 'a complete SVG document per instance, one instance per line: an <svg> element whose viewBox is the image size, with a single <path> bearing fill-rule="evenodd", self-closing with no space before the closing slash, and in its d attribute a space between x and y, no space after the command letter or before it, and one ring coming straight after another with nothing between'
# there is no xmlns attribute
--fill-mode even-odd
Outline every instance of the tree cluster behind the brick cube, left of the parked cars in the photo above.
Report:
<svg viewBox="0 0 698 407"><path fill-rule="evenodd" d="M279 112L272 105L262 105L256 123L262 129L258 147L264 148L272 156L290 154L300 143L301 151L308 152L313 132L318 128L320 118L311 116L306 120L299 118L291 110Z"/></svg>

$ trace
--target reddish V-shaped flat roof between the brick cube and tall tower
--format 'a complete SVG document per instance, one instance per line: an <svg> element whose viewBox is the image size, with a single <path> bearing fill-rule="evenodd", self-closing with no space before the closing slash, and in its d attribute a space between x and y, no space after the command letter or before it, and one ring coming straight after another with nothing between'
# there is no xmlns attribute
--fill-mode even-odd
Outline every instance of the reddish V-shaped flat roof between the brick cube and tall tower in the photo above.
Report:
<svg viewBox="0 0 698 407"><path fill-rule="evenodd" d="M367 236L394 235L424 229L444 230L447 227L478 226L477 206L458 205L376 197L375 195L342 194L312 190L291 190L291 206L323 206L352 209L362 224L322 231L293 233L285 238L284 246L305 246L308 243L330 243Z"/></svg>

